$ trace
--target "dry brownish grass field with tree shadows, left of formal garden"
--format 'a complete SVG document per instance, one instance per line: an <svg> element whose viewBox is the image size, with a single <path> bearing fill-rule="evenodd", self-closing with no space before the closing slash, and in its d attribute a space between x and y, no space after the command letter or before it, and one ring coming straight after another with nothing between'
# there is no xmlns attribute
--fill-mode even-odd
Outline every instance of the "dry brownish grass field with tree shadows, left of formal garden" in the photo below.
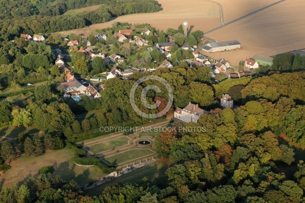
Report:
<svg viewBox="0 0 305 203"><path fill-rule="evenodd" d="M21 184L26 178L39 175L39 169L52 165L54 175L59 175L65 181L75 180L80 186L104 176L97 166L82 167L73 163L74 151L68 148L46 152L37 157L21 156L11 162L12 168L1 175L0 189L5 186Z"/></svg>

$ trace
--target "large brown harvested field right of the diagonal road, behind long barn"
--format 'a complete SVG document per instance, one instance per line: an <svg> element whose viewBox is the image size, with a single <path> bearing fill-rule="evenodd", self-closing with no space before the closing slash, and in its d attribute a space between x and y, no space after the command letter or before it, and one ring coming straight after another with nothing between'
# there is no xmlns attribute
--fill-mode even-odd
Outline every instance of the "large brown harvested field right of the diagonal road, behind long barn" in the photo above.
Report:
<svg viewBox="0 0 305 203"><path fill-rule="evenodd" d="M223 0L218 0L223 1ZM237 1L237 0L236 0ZM207 37L219 41L238 40L242 50L221 52L220 57L232 65L256 54L272 56L305 47L303 30L305 2L286 0L245 19L227 25ZM219 53L206 53L218 58Z"/></svg>

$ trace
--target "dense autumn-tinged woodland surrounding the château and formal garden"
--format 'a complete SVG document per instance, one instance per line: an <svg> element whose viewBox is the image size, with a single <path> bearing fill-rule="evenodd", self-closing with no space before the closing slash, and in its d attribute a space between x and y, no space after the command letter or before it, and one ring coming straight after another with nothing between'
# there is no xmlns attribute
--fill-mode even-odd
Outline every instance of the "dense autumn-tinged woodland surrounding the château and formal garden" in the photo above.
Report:
<svg viewBox="0 0 305 203"><path fill-rule="evenodd" d="M196 71L181 64L171 70L157 70L153 75L169 81L175 94L175 107L184 107L190 99L203 108L213 105L215 92L207 85L210 81L208 77L197 78L199 74ZM77 104L85 110L105 111L96 120L90 119L89 123L112 125L131 119L135 123L144 122L131 110L126 93L138 77L135 74L130 80L108 80L100 99ZM295 95L291 92L298 86L304 86L305 73L272 74L253 79L247 84L244 80L226 80L226 83L222 82L226 85L220 83L214 86L215 89L223 88L223 91L227 91L228 86L232 96L240 98L241 106L233 110L216 108L202 115L198 123L174 123L174 126L204 127L205 131L168 130L159 134L156 138L158 156L171 160L166 171L168 179L160 185L151 185L147 180L141 185L113 185L99 197L89 197L82 193L75 182L67 184L49 174L29 178L19 187L3 189L0 199L2 202L19 202L20 199L23 199L22 202L61 202L67 198L71 202L302 202L305 165L299 161L299 157L295 157L295 149L287 145L280 135L286 133L294 142L304 145L304 93L298 91ZM263 81L270 88L264 89L262 94L254 86L263 85ZM117 86L123 88L117 89ZM235 88L241 91L235 91ZM199 97L201 100L193 97L200 93L198 89L205 95L204 98ZM55 134L62 133L60 128L63 126L57 126L60 123L65 123L66 127L72 126L69 130L72 137L82 129L90 129L90 125L73 121L72 111L76 109L76 104L56 99L55 92L52 93L54 87L50 87L47 95L40 91L35 90L33 102L25 109L12 107L9 103L4 107L2 101L1 112L12 108L28 111L32 113L31 122L36 122L36 126L45 124L40 120L49 119L52 121L50 124L39 128L46 129L50 134L54 131ZM151 94L148 100L158 97L166 98L165 93L160 92ZM8 116L7 119L14 121L15 117ZM68 134L66 136L69 137ZM37 138L32 139L37 142ZM5 147L12 149L7 144ZM2 154L2 157L9 156ZM294 169L286 171L285 168L290 165Z"/></svg>

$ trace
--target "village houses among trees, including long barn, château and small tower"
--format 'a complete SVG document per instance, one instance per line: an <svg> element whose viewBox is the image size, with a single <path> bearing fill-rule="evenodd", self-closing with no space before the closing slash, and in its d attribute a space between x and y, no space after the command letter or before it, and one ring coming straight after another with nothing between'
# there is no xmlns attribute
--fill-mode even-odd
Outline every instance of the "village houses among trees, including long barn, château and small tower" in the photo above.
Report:
<svg viewBox="0 0 305 203"><path fill-rule="evenodd" d="M237 40L213 42L205 38L201 30L190 32L188 22L185 21L183 24L184 27L181 24L178 31L169 28L164 33L147 24L132 28L130 24L116 23L116 28L101 30L105 32L97 33L97 35L73 35L70 36L70 39L61 38L63 42L53 52L56 58L55 65L58 66L60 73L65 75L65 82L60 82L58 85L63 90L63 96L72 97L75 101L81 100L83 95L89 98L99 98L101 96L99 91L104 89L105 80L128 79L133 73L143 74L162 68L171 69L182 61L186 62L189 67L210 67L212 81L215 84L225 79L252 77L252 71L258 69L260 65L272 65L272 58L256 55L244 61L241 59L240 64L234 66L220 55L224 51L242 49ZM169 35L170 33L171 35ZM41 35L32 37L21 34L20 38L25 38L27 42L38 43L48 40ZM219 53L219 58L210 58L205 55L205 53L214 52ZM105 71L94 74L89 74L87 71L86 75L77 73L75 64L71 62L71 58L77 53L82 53L88 66L92 65L95 58L102 58ZM229 95L227 95L228 97ZM222 101L221 104L223 107L233 107L233 103L228 106ZM191 110L188 110L189 108ZM183 112L192 112L192 116L184 116ZM203 113L204 110L198 108L197 105L197 108L177 109L175 117L184 121L191 119L196 122L198 115Z"/></svg>

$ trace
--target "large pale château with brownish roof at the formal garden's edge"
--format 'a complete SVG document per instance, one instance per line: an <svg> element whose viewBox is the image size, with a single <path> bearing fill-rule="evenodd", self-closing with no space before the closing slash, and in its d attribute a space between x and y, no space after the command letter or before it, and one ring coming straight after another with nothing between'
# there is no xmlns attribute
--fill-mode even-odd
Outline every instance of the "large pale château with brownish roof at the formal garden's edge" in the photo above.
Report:
<svg viewBox="0 0 305 203"><path fill-rule="evenodd" d="M174 117L187 123L197 123L199 117L207 113L207 111L200 109L198 105L189 103L189 105L186 106L184 109L176 108Z"/></svg>

